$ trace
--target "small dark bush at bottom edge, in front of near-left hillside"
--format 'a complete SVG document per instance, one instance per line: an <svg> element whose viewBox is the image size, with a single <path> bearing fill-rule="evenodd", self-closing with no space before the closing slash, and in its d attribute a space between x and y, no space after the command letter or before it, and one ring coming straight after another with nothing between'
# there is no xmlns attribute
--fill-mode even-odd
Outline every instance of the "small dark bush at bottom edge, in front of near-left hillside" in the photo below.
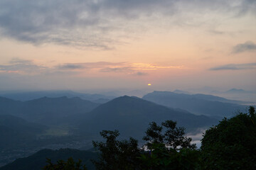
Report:
<svg viewBox="0 0 256 170"><path fill-rule="evenodd" d="M69 158L67 162L58 160L57 164L53 164L50 159L47 159L47 165L43 167L43 170L87 170L82 166L82 161L75 162L73 158Z"/></svg>

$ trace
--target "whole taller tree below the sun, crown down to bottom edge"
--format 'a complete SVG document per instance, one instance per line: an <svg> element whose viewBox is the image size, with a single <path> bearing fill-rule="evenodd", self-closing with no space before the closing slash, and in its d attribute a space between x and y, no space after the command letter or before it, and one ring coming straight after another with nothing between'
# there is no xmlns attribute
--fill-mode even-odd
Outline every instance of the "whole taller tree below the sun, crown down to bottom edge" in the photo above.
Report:
<svg viewBox="0 0 256 170"><path fill-rule="evenodd" d="M190 137L184 137L185 128L176 125L172 120L166 120L161 126L149 123L143 140L147 141L145 146L150 151L139 157L142 169L196 169L199 164L196 145L191 144Z"/></svg>

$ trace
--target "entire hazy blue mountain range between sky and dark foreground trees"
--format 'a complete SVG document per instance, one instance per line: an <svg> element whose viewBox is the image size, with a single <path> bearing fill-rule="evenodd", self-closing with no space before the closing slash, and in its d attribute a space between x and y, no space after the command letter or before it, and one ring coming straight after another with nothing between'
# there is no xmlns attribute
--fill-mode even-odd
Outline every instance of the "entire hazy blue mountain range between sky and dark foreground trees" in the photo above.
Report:
<svg viewBox="0 0 256 170"><path fill-rule="evenodd" d="M88 148L92 140L100 139L102 130L119 130L120 137L131 136L142 142L151 121L175 120L178 126L186 128L186 132L196 132L246 108L238 104L240 101L204 94L183 94L182 91L178 94L154 91L143 98L121 96L97 100L105 101L100 104L67 96L30 101L0 97L0 149L22 150L62 146L70 142L76 142L76 145L80 142L81 147ZM85 140L86 146L83 144ZM3 152L0 157L9 155ZM13 152L11 157L18 158Z"/></svg>

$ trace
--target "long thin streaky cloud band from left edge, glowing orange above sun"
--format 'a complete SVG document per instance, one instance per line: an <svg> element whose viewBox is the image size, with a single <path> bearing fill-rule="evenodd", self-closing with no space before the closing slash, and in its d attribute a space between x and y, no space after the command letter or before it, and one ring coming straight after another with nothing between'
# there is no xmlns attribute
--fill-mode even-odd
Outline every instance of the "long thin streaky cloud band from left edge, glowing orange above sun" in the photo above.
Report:
<svg viewBox="0 0 256 170"><path fill-rule="evenodd" d="M148 63L129 63L129 62L83 62L65 63L53 67L36 64L32 60L21 60L14 58L9 64L0 65L0 72L14 72L17 74L83 74L90 72L93 74L117 73L133 74L145 76L148 71L158 69L182 69L183 66L164 66Z"/></svg>

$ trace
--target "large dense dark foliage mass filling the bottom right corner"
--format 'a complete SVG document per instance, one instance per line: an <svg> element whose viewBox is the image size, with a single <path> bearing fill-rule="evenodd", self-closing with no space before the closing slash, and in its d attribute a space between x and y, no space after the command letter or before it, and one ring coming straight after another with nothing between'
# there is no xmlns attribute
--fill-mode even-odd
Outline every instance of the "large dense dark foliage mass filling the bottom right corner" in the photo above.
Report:
<svg viewBox="0 0 256 170"><path fill-rule="evenodd" d="M202 169L256 169L255 109L224 118L202 140Z"/></svg>

